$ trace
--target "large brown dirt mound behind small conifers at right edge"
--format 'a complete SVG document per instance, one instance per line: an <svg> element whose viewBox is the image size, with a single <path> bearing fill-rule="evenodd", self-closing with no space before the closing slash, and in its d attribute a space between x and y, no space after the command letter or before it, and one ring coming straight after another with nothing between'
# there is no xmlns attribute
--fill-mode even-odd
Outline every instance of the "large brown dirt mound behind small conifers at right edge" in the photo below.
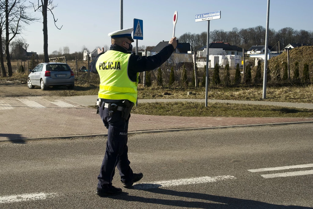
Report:
<svg viewBox="0 0 313 209"><path fill-rule="evenodd" d="M295 62L299 62L299 71L300 74L303 71L304 64L309 64L310 73L313 71L313 46L302 46L294 48L289 51L290 59L290 76L293 77L293 70L295 69ZM269 69L274 70L277 64L280 65L280 68L283 68L283 62L287 62L287 52L283 52L277 57L273 57L269 60Z"/></svg>

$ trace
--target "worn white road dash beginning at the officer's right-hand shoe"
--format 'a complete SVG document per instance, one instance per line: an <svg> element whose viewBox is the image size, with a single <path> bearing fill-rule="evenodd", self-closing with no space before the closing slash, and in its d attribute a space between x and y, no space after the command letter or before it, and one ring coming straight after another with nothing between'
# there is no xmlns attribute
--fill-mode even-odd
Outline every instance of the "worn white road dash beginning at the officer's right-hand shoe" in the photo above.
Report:
<svg viewBox="0 0 313 209"><path fill-rule="evenodd" d="M159 187L167 187L167 186L178 186L178 185L188 185L188 184L202 184L208 182L215 182L225 179L236 179L235 176L231 175L223 175L223 176L202 176L188 179L173 179L166 181L152 181L152 182L143 182L134 185L134 189L153 189Z"/></svg>

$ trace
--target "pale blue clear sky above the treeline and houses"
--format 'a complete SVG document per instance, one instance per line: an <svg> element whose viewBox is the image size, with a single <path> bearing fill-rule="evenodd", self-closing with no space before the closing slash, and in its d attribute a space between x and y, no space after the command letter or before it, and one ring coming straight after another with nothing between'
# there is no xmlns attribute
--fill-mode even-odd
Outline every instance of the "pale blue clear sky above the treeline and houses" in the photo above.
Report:
<svg viewBox="0 0 313 209"><path fill-rule="evenodd" d="M28 1L26 1L28 2ZM35 1L37 2L37 1ZM68 46L70 53L81 51L85 45L90 51L97 46L110 46L110 32L120 29L120 0L53 0L53 16L48 13L48 53ZM313 0L271 0L269 28L276 31L291 27L313 31ZM207 21L195 22L195 15L221 11L221 18L210 21L210 31L232 30L266 26L267 0L123 0L123 29L132 28L134 18L143 20L143 40L138 45L155 46L169 41L173 34L172 18L178 12L175 36L208 30ZM30 11L42 18L40 12ZM42 20L25 25L21 36L29 44L28 52L43 54ZM135 47L135 43L133 46Z"/></svg>

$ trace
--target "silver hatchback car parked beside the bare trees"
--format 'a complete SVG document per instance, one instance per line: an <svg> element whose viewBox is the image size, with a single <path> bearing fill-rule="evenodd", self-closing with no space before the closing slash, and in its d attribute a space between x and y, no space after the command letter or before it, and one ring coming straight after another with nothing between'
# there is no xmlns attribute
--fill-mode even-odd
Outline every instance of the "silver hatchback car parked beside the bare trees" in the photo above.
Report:
<svg viewBox="0 0 313 209"><path fill-rule="evenodd" d="M74 72L66 63L40 63L33 70L29 70L29 72L27 86L30 89L33 89L35 86L40 86L41 90L46 90L48 86L74 88Z"/></svg>

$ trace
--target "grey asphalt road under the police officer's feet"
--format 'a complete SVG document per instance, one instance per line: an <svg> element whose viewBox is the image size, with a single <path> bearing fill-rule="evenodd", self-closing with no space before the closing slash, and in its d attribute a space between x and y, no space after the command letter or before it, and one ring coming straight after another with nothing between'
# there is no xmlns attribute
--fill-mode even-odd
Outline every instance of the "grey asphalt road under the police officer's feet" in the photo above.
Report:
<svg viewBox="0 0 313 209"><path fill-rule="evenodd" d="M134 189L105 198L95 194L105 137L0 143L0 208L311 208L312 129L129 135L131 167L144 177ZM261 168L273 169L254 170ZM118 172L113 185L122 188Z"/></svg>

